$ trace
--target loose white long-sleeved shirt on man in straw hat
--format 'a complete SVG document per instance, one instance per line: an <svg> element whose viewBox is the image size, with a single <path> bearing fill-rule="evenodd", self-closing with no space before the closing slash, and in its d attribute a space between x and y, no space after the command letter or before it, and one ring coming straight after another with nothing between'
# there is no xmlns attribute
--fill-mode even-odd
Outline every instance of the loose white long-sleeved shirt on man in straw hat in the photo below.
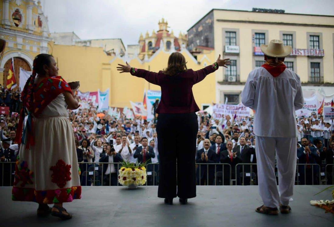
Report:
<svg viewBox="0 0 334 227"><path fill-rule="evenodd" d="M261 137L297 137L295 110L304 105L300 77L286 68L272 76L259 67L248 75L241 102L255 110L254 134Z"/></svg>

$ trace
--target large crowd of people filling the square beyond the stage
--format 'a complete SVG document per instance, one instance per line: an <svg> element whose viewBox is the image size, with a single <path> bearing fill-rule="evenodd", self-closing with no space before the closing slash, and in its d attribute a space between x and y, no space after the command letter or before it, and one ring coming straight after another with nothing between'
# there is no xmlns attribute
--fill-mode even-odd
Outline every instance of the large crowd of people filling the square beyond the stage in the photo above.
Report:
<svg viewBox="0 0 334 227"><path fill-rule="evenodd" d="M17 101L19 95L16 94L19 92L2 88L1 94L0 98L6 101L2 105L8 104L11 112L18 112L20 102ZM92 105L90 109L69 110L81 170L81 185L118 185L117 170L123 161L146 161L148 184L158 184L159 154L154 120L147 121L141 116L126 119L122 113L119 116L112 117L106 111L97 112ZM18 155L19 146L13 142L17 123L17 115L0 116L1 163L15 162ZM226 115L221 119L214 119L209 113L200 111L198 125L197 184L257 184L256 165L249 165L257 163L253 118ZM299 165L296 184L320 184L321 180L332 184L333 168L324 168L327 164L333 164L334 159L333 119L324 121L323 116L312 113L310 117L299 118L297 128L297 162L310 165ZM237 164L239 165L235 168ZM318 165L312 164L318 164L320 169ZM14 166L7 165L3 171L1 169L2 166L0 184L11 185ZM322 176L321 172L326 172L327 177Z"/></svg>

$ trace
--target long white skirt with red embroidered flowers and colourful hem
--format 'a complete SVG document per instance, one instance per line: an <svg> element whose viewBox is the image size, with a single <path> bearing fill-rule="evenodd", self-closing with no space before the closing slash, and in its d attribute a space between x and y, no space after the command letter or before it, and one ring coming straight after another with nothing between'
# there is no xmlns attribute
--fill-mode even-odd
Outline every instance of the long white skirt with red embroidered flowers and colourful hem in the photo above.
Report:
<svg viewBox="0 0 334 227"><path fill-rule="evenodd" d="M35 145L21 144L12 200L52 204L81 198L78 161L66 117L34 118Z"/></svg>

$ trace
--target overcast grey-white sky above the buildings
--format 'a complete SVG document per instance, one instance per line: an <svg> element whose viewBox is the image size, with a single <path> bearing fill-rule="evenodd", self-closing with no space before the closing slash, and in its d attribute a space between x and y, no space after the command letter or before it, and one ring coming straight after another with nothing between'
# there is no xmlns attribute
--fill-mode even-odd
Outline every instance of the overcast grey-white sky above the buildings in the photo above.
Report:
<svg viewBox="0 0 334 227"><path fill-rule="evenodd" d="M73 31L81 39L121 38L138 44L140 33L158 30L164 17L178 36L211 9L283 9L286 13L334 14L334 0L41 0L50 32Z"/></svg>

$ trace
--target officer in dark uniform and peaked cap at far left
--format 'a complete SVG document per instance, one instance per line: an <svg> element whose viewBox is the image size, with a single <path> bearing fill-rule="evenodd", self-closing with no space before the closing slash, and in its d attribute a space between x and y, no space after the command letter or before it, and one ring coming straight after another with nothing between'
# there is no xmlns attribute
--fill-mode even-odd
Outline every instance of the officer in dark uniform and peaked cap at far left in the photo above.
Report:
<svg viewBox="0 0 334 227"><path fill-rule="evenodd" d="M15 151L10 149L11 138L4 139L2 141L2 148L0 148L0 177L3 176L3 185L11 186L14 183L15 164L9 164L9 162L15 162ZM2 172L3 170L3 172ZM2 182L0 181L0 184Z"/></svg>

